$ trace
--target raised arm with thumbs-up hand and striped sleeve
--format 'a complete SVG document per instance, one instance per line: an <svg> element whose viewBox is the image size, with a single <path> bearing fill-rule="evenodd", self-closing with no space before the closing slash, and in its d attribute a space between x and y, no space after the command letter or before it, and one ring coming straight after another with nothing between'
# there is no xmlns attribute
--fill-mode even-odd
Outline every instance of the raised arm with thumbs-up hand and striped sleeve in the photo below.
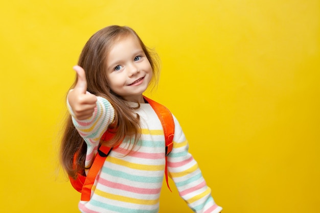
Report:
<svg viewBox="0 0 320 213"><path fill-rule="evenodd" d="M102 134L115 118L115 109L108 100L87 92L84 70L80 66L75 66L74 69L78 80L75 88L68 93L67 106L74 126L87 144L85 166L89 167Z"/></svg>

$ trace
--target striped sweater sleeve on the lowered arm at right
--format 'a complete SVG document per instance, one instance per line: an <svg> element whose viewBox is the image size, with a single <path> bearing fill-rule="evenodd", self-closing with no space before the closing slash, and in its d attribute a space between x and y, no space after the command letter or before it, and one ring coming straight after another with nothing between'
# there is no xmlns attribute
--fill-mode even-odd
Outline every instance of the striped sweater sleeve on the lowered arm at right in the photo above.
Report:
<svg viewBox="0 0 320 213"><path fill-rule="evenodd" d="M188 152L189 145L178 121L174 117L173 149L168 156L168 171L179 195L197 213L218 213L222 210L211 196L211 188L202 177L197 162Z"/></svg>

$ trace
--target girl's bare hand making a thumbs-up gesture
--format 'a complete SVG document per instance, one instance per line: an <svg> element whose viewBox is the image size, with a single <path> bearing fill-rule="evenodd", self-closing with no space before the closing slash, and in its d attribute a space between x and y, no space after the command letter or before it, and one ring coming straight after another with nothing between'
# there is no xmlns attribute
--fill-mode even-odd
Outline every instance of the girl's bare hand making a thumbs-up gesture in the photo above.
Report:
<svg viewBox="0 0 320 213"><path fill-rule="evenodd" d="M91 117L95 111L97 97L87 92L87 81L82 67L74 66L77 72L77 84L73 90L68 93L68 102L74 112L77 120L85 120Z"/></svg>

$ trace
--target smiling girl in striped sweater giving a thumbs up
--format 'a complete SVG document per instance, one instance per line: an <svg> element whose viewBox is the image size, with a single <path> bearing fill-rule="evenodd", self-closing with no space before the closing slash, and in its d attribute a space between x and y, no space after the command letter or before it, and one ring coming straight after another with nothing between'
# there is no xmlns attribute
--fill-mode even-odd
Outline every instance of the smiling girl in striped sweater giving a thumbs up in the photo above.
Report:
<svg viewBox="0 0 320 213"><path fill-rule="evenodd" d="M67 96L71 116L61 144L63 168L73 178L82 170L87 174L107 128L117 131L106 145L120 146L104 161L90 200L79 202L81 212L159 211L165 137L155 111L142 95L151 82L157 82L155 56L131 28L120 26L98 31L82 50L74 67L77 78ZM167 161L179 195L194 212L220 212L175 117L174 125Z"/></svg>

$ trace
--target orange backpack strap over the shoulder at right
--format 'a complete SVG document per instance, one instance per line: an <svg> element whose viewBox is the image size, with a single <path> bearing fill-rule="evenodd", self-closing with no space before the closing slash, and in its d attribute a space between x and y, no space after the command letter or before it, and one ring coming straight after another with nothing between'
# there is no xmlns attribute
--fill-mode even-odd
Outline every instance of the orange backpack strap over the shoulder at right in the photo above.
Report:
<svg viewBox="0 0 320 213"><path fill-rule="evenodd" d="M166 182L169 190L171 191L171 188L169 186L169 180L168 180L168 155L172 151L173 148L173 136L174 136L174 121L172 114L170 110L165 107L162 104L159 104L147 97L143 97L153 108L155 113L158 115L159 120L161 121L162 128L164 130L165 134L165 141L166 141L166 168L165 168L165 176L166 176ZM172 191L171 191L172 192Z"/></svg>

